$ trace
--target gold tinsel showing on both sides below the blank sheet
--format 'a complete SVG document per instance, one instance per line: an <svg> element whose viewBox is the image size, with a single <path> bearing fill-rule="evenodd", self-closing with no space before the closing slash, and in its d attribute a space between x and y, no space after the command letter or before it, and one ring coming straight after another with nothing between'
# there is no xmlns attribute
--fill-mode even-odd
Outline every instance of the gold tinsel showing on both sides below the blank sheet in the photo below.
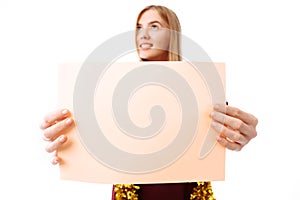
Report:
<svg viewBox="0 0 300 200"><path fill-rule="evenodd" d="M115 200L139 200L139 186L134 184L115 184ZM213 196L211 182L197 182L189 200L216 200Z"/></svg>

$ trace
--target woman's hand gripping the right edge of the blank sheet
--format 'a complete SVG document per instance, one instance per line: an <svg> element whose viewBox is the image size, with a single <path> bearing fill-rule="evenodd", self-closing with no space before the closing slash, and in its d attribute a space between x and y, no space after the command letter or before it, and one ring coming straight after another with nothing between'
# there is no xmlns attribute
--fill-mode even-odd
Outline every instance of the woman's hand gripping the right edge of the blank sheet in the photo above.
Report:
<svg viewBox="0 0 300 200"><path fill-rule="evenodd" d="M212 128L220 134L217 141L227 149L240 151L257 135L257 118L238 108L215 105L211 118Z"/></svg>

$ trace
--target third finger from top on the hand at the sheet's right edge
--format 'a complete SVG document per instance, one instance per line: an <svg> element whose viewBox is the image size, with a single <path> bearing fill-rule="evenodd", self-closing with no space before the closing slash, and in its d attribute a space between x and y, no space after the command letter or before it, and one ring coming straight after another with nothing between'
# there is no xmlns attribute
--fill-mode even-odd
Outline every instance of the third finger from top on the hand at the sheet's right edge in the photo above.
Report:
<svg viewBox="0 0 300 200"><path fill-rule="evenodd" d="M228 141L231 141L232 143L245 145L249 141L245 137L245 135L241 134L239 131L228 128L223 124L212 122L212 128L215 131L217 131L220 135L222 135L222 137L226 138Z"/></svg>

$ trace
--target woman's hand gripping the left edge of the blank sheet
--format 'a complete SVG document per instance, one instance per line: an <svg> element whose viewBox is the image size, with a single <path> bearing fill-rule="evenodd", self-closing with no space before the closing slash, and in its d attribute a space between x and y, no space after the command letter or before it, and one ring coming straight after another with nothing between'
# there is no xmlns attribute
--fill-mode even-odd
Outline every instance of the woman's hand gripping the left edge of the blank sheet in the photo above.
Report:
<svg viewBox="0 0 300 200"><path fill-rule="evenodd" d="M54 153L51 160L54 165L59 163L57 149L68 140L64 134L72 126L74 126L74 120L68 109L59 109L48 113L40 125L43 130L43 139L48 141L45 149L48 153Z"/></svg>

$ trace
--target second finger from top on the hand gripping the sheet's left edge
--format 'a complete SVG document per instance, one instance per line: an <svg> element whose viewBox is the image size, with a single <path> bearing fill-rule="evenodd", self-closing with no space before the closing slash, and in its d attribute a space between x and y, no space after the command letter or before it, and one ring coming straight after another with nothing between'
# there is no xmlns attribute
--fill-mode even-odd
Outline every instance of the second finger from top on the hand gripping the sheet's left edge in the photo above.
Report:
<svg viewBox="0 0 300 200"><path fill-rule="evenodd" d="M73 124L72 118L66 118L63 121L60 121L47 129L44 130L44 138L46 140L53 140L55 139L59 134L62 134L64 131L69 129Z"/></svg>

